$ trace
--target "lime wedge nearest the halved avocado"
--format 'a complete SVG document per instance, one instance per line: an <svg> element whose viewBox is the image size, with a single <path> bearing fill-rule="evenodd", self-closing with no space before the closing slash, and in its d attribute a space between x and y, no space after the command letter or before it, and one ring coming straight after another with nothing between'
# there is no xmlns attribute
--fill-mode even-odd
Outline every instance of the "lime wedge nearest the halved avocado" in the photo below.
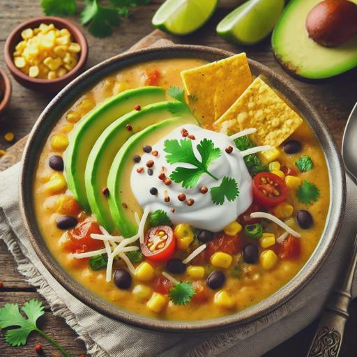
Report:
<svg viewBox="0 0 357 357"><path fill-rule="evenodd" d="M217 33L238 45L254 45L273 30L284 8L284 0L249 0L229 13Z"/></svg>

